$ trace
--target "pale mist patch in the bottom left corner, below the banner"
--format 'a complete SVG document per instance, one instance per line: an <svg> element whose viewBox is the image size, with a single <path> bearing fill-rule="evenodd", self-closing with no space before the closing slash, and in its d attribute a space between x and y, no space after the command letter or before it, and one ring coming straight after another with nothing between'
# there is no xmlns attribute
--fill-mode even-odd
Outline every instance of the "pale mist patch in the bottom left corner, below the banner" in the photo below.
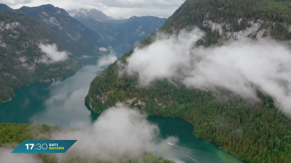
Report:
<svg viewBox="0 0 291 163"><path fill-rule="evenodd" d="M14 149L0 148L0 162L40 163L43 162L31 153L11 153Z"/></svg>

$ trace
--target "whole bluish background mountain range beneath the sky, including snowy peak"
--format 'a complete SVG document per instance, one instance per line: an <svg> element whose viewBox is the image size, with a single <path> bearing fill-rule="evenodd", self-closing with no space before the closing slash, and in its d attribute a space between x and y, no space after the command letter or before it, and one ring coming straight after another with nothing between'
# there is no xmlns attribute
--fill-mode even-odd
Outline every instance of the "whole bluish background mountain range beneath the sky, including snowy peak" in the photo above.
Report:
<svg viewBox="0 0 291 163"><path fill-rule="evenodd" d="M112 47L120 56L157 31L166 18L153 16L112 19L96 9L65 11L47 4L38 7L23 6L12 9L0 4L0 10L23 12L37 19L42 26L72 55L96 57L104 54L101 47Z"/></svg>

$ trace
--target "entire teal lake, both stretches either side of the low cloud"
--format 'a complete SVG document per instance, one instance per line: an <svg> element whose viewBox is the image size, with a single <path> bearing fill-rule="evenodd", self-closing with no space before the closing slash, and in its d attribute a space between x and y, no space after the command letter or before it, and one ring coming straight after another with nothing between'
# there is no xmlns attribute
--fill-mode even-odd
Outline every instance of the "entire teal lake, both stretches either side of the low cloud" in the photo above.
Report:
<svg viewBox="0 0 291 163"><path fill-rule="evenodd" d="M89 126L99 116L84 104L91 81L101 69L84 66L62 81L36 83L15 90L11 101L0 104L0 122L44 123L61 127ZM161 137L179 137L175 148L183 162L242 162L215 144L193 134L193 126L183 119L148 117L159 126ZM193 160L194 159L194 160Z"/></svg>

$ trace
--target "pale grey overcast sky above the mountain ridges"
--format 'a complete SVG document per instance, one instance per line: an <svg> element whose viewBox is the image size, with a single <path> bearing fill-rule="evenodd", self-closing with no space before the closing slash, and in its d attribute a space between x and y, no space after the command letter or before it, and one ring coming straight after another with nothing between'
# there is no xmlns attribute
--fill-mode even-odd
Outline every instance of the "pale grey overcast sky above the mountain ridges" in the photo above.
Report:
<svg viewBox="0 0 291 163"><path fill-rule="evenodd" d="M65 10L95 8L114 18L132 16L169 17L185 0L0 0L10 8L52 4Z"/></svg>

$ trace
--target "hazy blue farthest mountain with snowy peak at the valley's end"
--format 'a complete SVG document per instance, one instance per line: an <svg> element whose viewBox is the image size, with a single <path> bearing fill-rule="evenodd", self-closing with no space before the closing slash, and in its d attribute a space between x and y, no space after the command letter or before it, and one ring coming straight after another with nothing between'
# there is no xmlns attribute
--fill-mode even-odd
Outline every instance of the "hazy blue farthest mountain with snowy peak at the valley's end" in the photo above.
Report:
<svg viewBox="0 0 291 163"><path fill-rule="evenodd" d="M93 29L102 37L102 41L112 46L118 54L132 49L136 42L157 31L166 21L166 18L153 16L133 16L129 19L113 20L95 9L80 9L75 12L68 11L68 13L88 28Z"/></svg>

